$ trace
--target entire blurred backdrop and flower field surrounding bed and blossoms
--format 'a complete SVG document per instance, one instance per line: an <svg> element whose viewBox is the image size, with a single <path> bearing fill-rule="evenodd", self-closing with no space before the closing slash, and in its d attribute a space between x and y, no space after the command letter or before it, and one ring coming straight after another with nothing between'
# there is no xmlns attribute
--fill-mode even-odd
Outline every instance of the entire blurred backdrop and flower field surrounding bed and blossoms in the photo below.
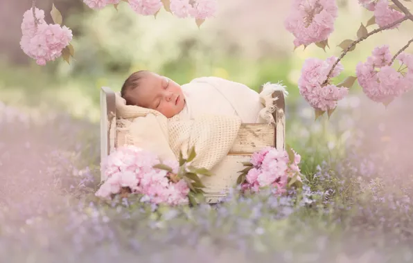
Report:
<svg viewBox="0 0 413 263"><path fill-rule="evenodd" d="M52 1L37 2L51 23ZM1 262L113 262L119 254L123 262L412 262L413 91L385 107L355 82L330 120L315 121L297 87L306 58L339 56L337 45L355 39L372 13L358 0L337 0L330 48L294 51L283 27L290 1L218 2L216 17L199 29L164 10L155 19L124 2L116 11L55 0L73 30L76 60L37 66L19 46L31 1L0 1ZM355 75L375 46L395 53L412 32L406 21L364 40L344 57L335 82ZM162 215L96 201L100 87L119 91L141 69L179 84L215 75L258 90L282 81L290 93L286 141L301 154L304 194L231 197L217 209Z"/></svg>

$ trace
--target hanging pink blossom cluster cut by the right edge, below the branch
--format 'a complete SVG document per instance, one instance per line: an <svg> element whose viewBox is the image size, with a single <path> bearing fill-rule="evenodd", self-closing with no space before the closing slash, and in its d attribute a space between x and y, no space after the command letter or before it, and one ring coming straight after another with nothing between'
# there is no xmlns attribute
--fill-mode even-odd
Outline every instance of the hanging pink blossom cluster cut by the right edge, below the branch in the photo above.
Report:
<svg viewBox="0 0 413 263"><path fill-rule="evenodd" d="M413 55L402 52L396 57L401 69L389 63L392 60L389 46L374 48L366 62L359 62L355 72L358 83L368 98L375 102L390 102L413 86ZM403 72L405 66L407 72Z"/></svg>

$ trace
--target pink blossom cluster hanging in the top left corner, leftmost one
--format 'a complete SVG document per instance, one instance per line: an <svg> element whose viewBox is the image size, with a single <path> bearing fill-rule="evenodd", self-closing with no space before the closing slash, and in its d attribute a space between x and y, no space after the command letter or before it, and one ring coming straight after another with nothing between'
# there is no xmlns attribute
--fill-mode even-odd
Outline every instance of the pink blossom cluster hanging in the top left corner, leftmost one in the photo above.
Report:
<svg viewBox="0 0 413 263"><path fill-rule="evenodd" d="M62 50L69 45L73 35L66 26L46 24L43 10L35 8L35 17L32 8L24 12L20 46L26 55L35 59L37 64L44 66L46 62L62 55Z"/></svg>

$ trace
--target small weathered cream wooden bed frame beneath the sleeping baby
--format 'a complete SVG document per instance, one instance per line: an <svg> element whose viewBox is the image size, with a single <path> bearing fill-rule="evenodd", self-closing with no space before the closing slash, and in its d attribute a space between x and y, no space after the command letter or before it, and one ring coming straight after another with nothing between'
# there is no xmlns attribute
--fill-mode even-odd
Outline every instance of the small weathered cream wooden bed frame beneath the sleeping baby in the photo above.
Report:
<svg viewBox="0 0 413 263"><path fill-rule="evenodd" d="M282 91L276 91L273 97L275 125L243 123L233 147L225 158L213 167L213 176L202 178L207 187L205 197L209 203L216 203L225 197L227 190L236 184L243 162L249 161L252 153L263 147L272 146L285 149L285 98ZM100 158L105 158L112 149L116 149L116 97L109 87L100 89ZM102 173L100 180L106 178Z"/></svg>

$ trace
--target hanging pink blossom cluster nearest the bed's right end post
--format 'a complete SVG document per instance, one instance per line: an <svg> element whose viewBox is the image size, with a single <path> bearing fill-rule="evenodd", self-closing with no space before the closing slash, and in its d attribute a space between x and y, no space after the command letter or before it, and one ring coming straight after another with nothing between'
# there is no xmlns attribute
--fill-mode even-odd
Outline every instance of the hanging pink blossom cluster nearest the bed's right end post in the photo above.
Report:
<svg viewBox="0 0 413 263"><path fill-rule="evenodd" d="M328 57L326 60L309 58L304 62L298 81L299 92L310 106L315 109L322 111L335 109L337 101L342 100L349 93L349 89L346 87L337 87L333 84L323 86L328 72L336 61L337 57ZM343 69L342 64L338 62L330 78L340 75Z"/></svg>

